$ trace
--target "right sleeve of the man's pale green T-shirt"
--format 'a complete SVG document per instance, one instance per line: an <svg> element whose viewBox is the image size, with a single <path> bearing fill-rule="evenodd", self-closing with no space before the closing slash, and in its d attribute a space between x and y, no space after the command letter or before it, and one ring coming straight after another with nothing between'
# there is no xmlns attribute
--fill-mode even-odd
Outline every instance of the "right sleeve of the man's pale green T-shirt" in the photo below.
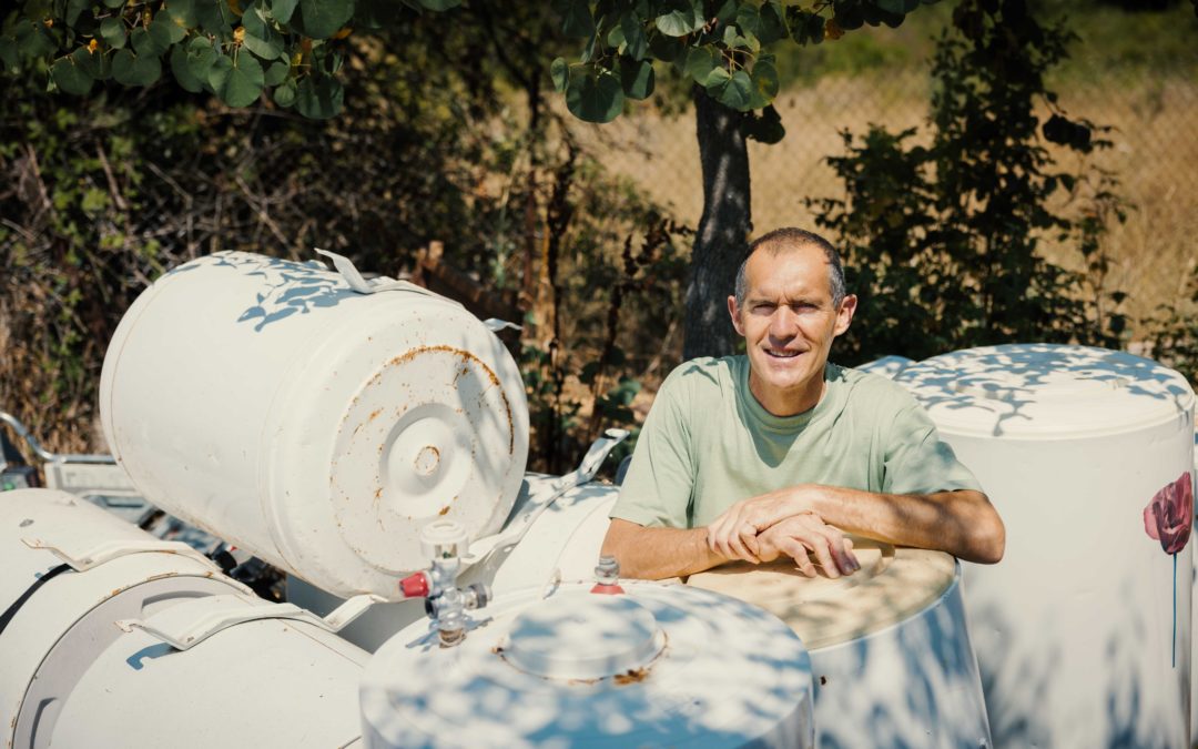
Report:
<svg viewBox="0 0 1198 749"><path fill-rule="evenodd" d="M957 489L982 490L973 472L940 440L932 418L903 389L898 410L890 423L882 490L888 494L931 494Z"/></svg>

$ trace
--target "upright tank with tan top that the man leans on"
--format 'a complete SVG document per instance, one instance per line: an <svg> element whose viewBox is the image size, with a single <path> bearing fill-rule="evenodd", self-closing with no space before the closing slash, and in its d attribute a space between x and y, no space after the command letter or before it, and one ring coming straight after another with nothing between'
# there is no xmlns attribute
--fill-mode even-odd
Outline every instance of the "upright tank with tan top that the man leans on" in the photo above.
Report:
<svg viewBox="0 0 1198 749"><path fill-rule="evenodd" d="M861 569L806 578L791 560L690 575L776 615L803 640L822 747L988 747L956 561L854 539Z"/></svg>

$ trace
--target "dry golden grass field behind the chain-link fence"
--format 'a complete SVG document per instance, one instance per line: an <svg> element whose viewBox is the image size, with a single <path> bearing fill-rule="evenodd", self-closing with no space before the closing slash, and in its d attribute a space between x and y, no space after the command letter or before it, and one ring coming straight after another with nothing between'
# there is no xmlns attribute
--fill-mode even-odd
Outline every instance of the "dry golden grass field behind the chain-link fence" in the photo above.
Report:
<svg viewBox="0 0 1198 749"><path fill-rule="evenodd" d="M884 81L871 77L828 77L818 85L783 92L779 111L787 128L778 145L750 144L752 212L758 231L779 225L810 226L807 197L843 193L828 156L843 152L842 129L864 133L870 123L890 131L922 126L927 81L906 73ZM1113 171L1120 193L1136 205L1114 225L1105 247L1113 260L1107 285L1129 294L1133 324L1162 302L1175 301L1198 259L1198 81L1181 77L1105 79L1061 91L1072 116L1111 125L1114 147L1094 156ZM642 109L611 125L579 126L580 138L605 150L604 162L628 175L680 219L698 223L702 181L694 114L665 119ZM1076 156L1059 153L1075 168ZM1067 159L1067 161L1065 161ZM1069 210L1069 206L1063 206ZM1054 261L1076 265L1076 253L1046 246ZM1133 325L1135 332L1135 325Z"/></svg>

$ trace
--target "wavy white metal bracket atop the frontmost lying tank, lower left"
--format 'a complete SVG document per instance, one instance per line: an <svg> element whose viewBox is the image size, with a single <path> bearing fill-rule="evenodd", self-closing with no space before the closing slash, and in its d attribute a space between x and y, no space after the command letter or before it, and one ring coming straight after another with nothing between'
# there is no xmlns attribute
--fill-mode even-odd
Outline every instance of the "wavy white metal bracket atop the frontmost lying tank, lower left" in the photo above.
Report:
<svg viewBox="0 0 1198 749"><path fill-rule="evenodd" d="M116 626L122 632L140 629L146 634L157 638L177 651L186 651L195 647L212 635L228 629L235 624L255 622L259 620L282 618L296 622L304 622L314 627L320 627L327 632L337 633L350 622L362 616L367 609L376 603L386 600L375 593L363 593L346 599L340 606L334 609L328 616L320 617L307 609L291 603L262 603L246 608L246 598L237 597L237 604L217 606L206 611L199 618L186 622L179 627L156 627L143 620L120 620Z"/></svg>

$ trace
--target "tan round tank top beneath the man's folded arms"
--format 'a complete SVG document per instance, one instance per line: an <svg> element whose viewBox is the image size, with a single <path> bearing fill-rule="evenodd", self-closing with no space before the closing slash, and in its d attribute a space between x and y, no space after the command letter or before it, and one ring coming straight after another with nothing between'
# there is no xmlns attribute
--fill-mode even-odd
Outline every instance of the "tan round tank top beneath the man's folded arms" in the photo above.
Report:
<svg viewBox="0 0 1198 749"><path fill-rule="evenodd" d="M956 560L940 551L895 548L853 537L861 569L807 578L788 558L736 562L690 575L688 586L734 596L789 624L807 650L867 636L932 605L956 579Z"/></svg>

